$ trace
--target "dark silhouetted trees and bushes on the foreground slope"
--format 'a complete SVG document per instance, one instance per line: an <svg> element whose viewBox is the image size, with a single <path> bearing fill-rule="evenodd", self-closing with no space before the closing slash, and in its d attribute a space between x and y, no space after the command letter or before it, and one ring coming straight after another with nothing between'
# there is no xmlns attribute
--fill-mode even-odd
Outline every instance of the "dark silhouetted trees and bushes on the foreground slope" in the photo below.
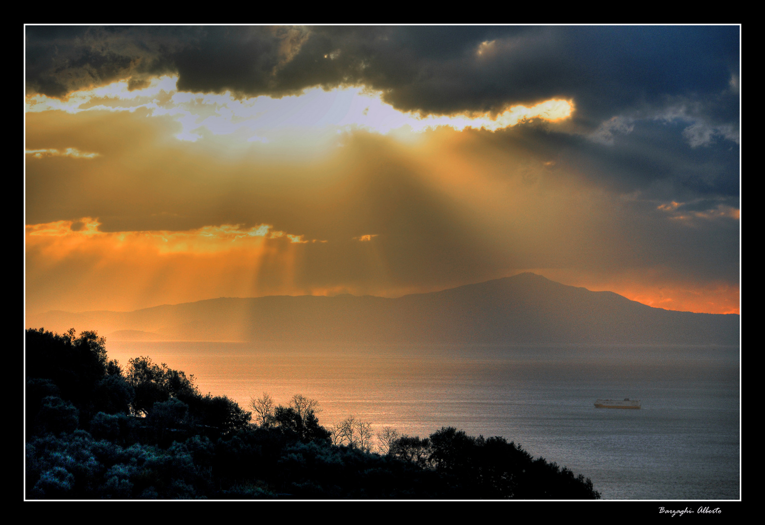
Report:
<svg viewBox="0 0 765 525"><path fill-rule="evenodd" d="M26 334L26 496L55 499L598 498L575 475L502 437L453 427L428 438L369 423L319 424L295 395L252 413L202 395L149 358L122 369L95 332Z"/></svg>

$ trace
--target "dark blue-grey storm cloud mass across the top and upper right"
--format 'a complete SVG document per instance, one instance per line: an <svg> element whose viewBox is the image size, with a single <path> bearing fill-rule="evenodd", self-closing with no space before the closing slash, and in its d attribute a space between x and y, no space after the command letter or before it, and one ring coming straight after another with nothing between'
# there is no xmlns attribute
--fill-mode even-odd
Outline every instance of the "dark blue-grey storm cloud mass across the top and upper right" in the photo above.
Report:
<svg viewBox="0 0 765 525"><path fill-rule="evenodd" d="M732 197L739 190L739 31L29 27L27 81L51 96L119 78L139 88L159 73L177 73L180 90L239 96L356 84L382 90L398 109L432 114L572 99L567 132L531 127L534 147L557 151L597 183L649 199ZM509 134L519 140L526 129Z"/></svg>

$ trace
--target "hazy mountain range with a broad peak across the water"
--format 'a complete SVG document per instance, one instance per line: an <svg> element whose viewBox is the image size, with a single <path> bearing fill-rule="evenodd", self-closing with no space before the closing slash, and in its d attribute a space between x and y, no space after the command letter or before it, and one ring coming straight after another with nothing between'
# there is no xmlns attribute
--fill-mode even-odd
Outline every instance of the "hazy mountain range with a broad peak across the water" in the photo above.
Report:
<svg viewBox="0 0 765 525"><path fill-rule="evenodd" d="M525 273L390 299L220 297L132 312L51 311L29 328L108 340L737 345L740 316L677 312Z"/></svg>

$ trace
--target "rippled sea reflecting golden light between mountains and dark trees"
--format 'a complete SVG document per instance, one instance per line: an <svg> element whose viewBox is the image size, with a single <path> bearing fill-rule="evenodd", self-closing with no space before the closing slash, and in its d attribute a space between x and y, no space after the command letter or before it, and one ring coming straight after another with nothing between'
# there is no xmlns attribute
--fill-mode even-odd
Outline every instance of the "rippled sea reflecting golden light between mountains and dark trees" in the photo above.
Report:
<svg viewBox="0 0 765 525"><path fill-rule="evenodd" d="M324 426L353 415L379 432L441 426L504 436L591 478L604 499L740 497L738 347L256 345L109 342L129 358L194 374L203 394L249 406L269 392L319 401ZM597 398L642 401L597 409Z"/></svg>

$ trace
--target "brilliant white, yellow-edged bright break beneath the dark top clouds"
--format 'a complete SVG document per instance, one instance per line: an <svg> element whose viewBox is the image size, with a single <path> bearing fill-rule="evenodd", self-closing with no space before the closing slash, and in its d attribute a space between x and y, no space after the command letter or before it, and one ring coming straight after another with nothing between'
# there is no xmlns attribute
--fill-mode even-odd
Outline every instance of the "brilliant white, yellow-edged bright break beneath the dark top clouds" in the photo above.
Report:
<svg viewBox="0 0 765 525"><path fill-rule="evenodd" d="M197 141L204 134L224 134L236 136L243 143L261 144L283 139L285 133L289 135L295 130L342 133L363 129L381 134L397 130L400 134L402 129L419 133L448 126L457 131L467 128L497 131L534 119L558 122L568 118L574 110L570 100L551 99L531 107L513 105L497 115L489 112L416 115L401 112L383 102L382 92L355 86L328 91L317 87L306 89L298 96L272 99L269 96L237 98L231 92L179 92L176 83L176 76L161 76L151 79L142 89L131 90L129 81L122 80L73 92L66 99L31 95L26 98L26 109L28 112L59 110L77 113L96 110L134 112L142 108L151 116L174 118L182 127L176 134L179 140ZM43 154L43 151L34 154Z"/></svg>

